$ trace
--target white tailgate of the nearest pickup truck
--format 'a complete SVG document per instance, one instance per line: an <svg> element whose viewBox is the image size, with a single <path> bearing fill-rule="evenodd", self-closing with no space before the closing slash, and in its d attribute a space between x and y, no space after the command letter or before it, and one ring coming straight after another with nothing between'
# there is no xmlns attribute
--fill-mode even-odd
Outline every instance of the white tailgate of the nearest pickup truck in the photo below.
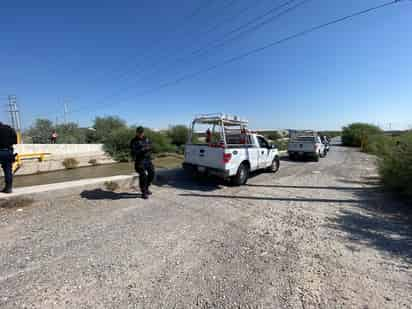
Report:
<svg viewBox="0 0 412 309"><path fill-rule="evenodd" d="M207 145L186 145L185 163L215 169L224 169L223 148L209 147Z"/></svg>

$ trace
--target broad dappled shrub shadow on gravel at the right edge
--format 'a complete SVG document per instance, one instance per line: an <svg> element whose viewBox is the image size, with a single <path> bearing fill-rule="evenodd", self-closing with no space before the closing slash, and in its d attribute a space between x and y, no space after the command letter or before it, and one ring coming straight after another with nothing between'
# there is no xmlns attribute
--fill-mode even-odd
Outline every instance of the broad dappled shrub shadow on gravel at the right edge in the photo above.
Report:
<svg viewBox="0 0 412 309"><path fill-rule="evenodd" d="M370 183L376 179L365 180ZM340 211L327 226L344 232L344 237L351 242L348 248L352 248L353 243L367 245L412 264L411 207L381 188L364 188L355 191L355 195L361 202L354 205L355 208Z"/></svg>

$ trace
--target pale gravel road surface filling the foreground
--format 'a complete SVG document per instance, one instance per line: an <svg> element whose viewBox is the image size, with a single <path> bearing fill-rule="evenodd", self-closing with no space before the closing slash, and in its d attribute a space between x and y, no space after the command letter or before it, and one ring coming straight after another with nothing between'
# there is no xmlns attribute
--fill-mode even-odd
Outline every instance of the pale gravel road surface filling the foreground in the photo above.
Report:
<svg viewBox="0 0 412 309"><path fill-rule="evenodd" d="M373 161L0 209L0 308L412 308L411 224Z"/></svg>

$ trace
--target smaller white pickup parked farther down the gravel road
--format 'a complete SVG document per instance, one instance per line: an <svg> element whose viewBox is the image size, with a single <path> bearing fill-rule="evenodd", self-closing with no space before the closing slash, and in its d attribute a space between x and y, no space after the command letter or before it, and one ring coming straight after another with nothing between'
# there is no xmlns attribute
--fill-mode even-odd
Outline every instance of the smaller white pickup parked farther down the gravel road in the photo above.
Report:
<svg viewBox="0 0 412 309"><path fill-rule="evenodd" d="M326 155L326 148L316 133L296 135L289 141L288 154L291 160L312 158L319 161L319 158Z"/></svg>

